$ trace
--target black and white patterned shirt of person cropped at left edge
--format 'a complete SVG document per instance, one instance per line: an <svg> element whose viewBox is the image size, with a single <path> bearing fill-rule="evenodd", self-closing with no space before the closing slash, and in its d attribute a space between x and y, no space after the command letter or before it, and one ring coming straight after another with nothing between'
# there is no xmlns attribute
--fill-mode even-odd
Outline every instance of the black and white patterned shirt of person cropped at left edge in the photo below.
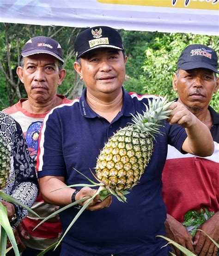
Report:
<svg viewBox="0 0 219 256"><path fill-rule="evenodd" d="M20 125L6 113L0 112L0 136L11 150L11 170L7 186L1 191L31 207L38 195L38 182L33 161ZM16 227L27 215L27 210L15 205L18 219Z"/></svg>

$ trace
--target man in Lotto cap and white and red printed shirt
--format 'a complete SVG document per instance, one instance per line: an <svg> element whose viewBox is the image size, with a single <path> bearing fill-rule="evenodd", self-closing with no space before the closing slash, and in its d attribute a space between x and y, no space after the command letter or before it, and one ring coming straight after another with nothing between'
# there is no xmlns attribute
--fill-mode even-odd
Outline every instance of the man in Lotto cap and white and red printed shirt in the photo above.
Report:
<svg viewBox="0 0 219 256"><path fill-rule="evenodd" d="M24 83L28 98L20 99L18 103L5 110L21 125L35 166L39 132L45 115L53 107L70 102L65 96L56 94L57 87L61 85L66 76L65 69L62 69L63 63L61 45L54 39L40 36L27 41L21 53L17 74L20 81ZM54 208L55 206L43 201L41 194L33 205L34 211L42 219L53 212ZM45 222L42 228L33 231L39 222L39 219L29 213L22 225L18 227L21 236L26 238L23 239L25 245L19 241L20 250L27 247L23 256L35 256L57 241L61 232L60 221L56 218L52 219ZM58 251L51 253L52 256L56 254L58 255Z"/></svg>

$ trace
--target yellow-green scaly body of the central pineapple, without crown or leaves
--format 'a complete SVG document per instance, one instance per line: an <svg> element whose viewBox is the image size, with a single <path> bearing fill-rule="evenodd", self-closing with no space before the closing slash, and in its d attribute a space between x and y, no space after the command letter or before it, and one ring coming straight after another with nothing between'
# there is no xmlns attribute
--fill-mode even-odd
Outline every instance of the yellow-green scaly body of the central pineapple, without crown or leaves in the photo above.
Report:
<svg viewBox="0 0 219 256"><path fill-rule="evenodd" d="M120 161L114 162L115 166L113 170L109 168L113 161L109 161L110 165L108 164L109 162L106 163L106 168L109 169L108 174L101 160L105 158L104 161L107 162L108 157L106 157L105 152L113 152L110 148L113 147L111 142L115 141L115 137L117 141L120 141L118 147L122 147L122 149L115 152L116 155L113 156L113 159L119 159ZM126 141L128 141L128 143L126 143ZM130 147L130 144L132 147ZM134 125L120 129L109 139L103 150L101 150L96 166L98 180L105 184L109 190L116 191L115 193L119 191L119 196L122 191L134 187L139 182L140 176L143 174L150 160L152 144L152 137L147 138L146 135L142 134ZM129 145L128 149L132 149L123 149L124 147L127 148L127 145ZM150 149L150 152L144 153L143 149Z"/></svg>

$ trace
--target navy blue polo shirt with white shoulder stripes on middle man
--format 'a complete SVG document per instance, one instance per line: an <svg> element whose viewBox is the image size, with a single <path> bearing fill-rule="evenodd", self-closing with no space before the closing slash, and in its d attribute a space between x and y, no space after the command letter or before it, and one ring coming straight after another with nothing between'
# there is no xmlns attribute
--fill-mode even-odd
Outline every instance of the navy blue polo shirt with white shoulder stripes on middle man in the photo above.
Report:
<svg viewBox="0 0 219 256"><path fill-rule="evenodd" d="M38 177L64 176L67 185L89 183L77 173L79 170L94 180L97 157L104 143L121 127L131 122L131 114L145 110L143 103L157 96L128 94L123 90L121 112L109 123L88 106L85 95L70 104L57 106L44 119L38 157ZM162 135L156 136L151 161L140 183L127 195L127 203L115 197L110 207L98 211L85 211L68 231L63 247L83 248L101 255L119 255L128 251L145 251L147 256L165 256L164 235L166 209L162 199L161 174L167 155L167 145L182 150L187 137L184 128L164 123ZM182 174L183 175L183 174ZM78 187L80 189L80 187ZM73 207L60 214L63 230L78 210ZM73 254L72 254L73 255Z"/></svg>

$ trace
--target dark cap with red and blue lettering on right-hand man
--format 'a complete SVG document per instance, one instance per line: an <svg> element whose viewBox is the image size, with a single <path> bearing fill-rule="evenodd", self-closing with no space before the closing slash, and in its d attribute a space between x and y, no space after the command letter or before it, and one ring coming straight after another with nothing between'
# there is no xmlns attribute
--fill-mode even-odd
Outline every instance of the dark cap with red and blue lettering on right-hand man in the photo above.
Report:
<svg viewBox="0 0 219 256"><path fill-rule="evenodd" d="M219 73L218 69L218 56L210 47L203 44L190 44L181 53L177 69L210 69L213 72Z"/></svg>

